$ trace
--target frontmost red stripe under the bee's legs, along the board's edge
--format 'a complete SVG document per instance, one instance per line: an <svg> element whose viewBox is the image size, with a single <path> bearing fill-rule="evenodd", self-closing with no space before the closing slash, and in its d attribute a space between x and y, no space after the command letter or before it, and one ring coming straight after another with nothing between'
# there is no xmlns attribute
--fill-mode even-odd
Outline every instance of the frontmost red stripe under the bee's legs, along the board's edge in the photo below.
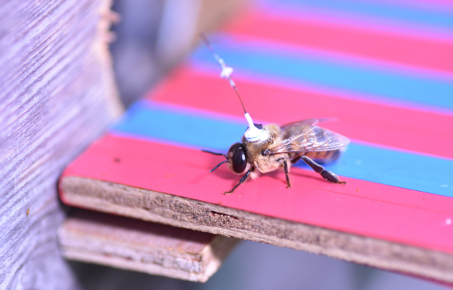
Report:
<svg viewBox="0 0 453 290"><path fill-rule="evenodd" d="M115 161L115 159L117 159ZM77 175L166 192L266 216L453 253L453 199L292 168L293 188L282 172L263 175L223 195L239 181L222 156L184 147L107 135L76 159L63 176ZM61 192L62 200L64 192Z"/></svg>

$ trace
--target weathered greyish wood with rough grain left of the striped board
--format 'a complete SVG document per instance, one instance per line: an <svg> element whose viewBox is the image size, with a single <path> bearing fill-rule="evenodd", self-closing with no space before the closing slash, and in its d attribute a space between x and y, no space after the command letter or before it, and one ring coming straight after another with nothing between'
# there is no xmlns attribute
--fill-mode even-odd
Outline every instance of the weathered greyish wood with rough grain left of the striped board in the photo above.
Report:
<svg viewBox="0 0 453 290"><path fill-rule="evenodd" d="M57 179L122 111L110 1L0 6L0 289L76 289L57 248Z"/></svg>

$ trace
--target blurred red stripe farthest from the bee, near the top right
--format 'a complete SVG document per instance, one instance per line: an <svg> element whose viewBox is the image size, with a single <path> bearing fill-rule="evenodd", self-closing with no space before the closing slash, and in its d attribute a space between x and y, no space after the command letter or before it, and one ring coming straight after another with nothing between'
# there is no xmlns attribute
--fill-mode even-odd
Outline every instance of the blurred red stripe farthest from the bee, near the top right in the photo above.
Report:
<svg viewBox="0 0 453 290"><path fill-rule="evenodd" d="M385 62L453 73L453 40L435 40L326 19L288 18L265 12L244 13L226 28L247 38L369 57Z"/></svg>

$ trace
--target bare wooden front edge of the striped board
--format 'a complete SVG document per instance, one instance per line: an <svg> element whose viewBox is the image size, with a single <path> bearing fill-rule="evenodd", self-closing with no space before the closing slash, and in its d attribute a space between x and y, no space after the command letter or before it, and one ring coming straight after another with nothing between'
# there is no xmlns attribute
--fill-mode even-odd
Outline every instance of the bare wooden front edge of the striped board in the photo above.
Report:
<svg viewBox="0 0 453 290"><path fill-rule="evenodd" d="M261 216L219 204L68 176L67 204L197 231L338 257L372 267L453 283L453 255Z"/></svg>

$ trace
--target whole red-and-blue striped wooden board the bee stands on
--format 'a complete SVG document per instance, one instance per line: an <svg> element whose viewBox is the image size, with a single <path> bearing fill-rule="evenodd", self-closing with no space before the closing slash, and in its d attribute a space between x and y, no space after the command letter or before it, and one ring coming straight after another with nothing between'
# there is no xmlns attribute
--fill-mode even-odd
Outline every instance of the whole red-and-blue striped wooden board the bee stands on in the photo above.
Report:
<svg viewBox="0 0 453 290"><path fill-rule="evenodd" d="M291 190L280 170L222 195L240 177L201 149L226 153L246 122L200 46L67 168L63 202L452 283L452 42L430 22L447 4L258 5L214 47L256 123L338 119L320 125L352 142L326 168L348 184L296 163Z"/></svg>

